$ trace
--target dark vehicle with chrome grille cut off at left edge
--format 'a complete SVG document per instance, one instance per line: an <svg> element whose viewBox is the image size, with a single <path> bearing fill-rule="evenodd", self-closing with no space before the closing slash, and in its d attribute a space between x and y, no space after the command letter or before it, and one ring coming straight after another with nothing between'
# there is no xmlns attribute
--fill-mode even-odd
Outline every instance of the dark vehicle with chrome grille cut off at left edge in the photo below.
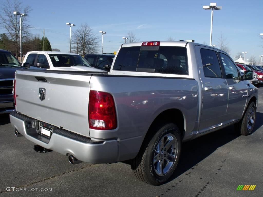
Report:
<svg viewBox="0 0 263 197"><path fill-rule="evenodd" d="M16 57L0 49L0 114L15 111L14 77L17 69L24 69Z"/></svg>

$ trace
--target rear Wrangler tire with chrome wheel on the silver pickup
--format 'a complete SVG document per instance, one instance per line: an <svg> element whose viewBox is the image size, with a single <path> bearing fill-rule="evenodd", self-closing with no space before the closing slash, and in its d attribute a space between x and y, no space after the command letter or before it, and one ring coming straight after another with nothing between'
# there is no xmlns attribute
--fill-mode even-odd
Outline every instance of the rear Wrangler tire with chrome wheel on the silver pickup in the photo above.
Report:
<svg viewBox="0 0 263 197"><path fill-rule="evenodd" d="M149 131L138 155L132 160L135 176L148 184L161 185L173 175L181 153L181 135L174 123Z"/></svg>

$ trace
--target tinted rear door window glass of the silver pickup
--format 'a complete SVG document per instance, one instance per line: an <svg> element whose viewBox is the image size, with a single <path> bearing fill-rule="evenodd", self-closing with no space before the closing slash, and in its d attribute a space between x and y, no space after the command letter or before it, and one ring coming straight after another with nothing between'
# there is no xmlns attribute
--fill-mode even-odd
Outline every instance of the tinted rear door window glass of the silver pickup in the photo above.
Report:
<svg viewBox="0 0 263 197"><path fill-rule="evenodd" d="M205 77L221 78L222 72L216 52L209 49L200 49Z"/></svg>

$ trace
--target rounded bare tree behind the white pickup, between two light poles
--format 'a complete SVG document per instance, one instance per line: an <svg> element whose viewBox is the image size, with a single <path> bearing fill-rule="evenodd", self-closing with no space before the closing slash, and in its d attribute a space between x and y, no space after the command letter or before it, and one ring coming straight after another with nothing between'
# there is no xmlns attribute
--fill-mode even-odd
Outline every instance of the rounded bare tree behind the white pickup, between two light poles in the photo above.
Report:
<svg viewBox="0 0 263 197"><path fill-rule="evenodd" d="M88 24L81 24L80 27L73 32L73 38L71 40L73 46L71 47L74 53L81 53L85 55L87 53L98 53L98 37L93 33L93 30Z"/></svg>

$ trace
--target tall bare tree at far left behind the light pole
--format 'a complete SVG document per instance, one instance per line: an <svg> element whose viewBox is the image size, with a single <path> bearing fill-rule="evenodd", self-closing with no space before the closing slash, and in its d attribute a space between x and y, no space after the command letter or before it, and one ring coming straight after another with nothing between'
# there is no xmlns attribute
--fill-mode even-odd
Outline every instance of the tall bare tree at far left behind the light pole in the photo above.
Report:
<svg viewBox="0 0 263 197"><path fill-rule="evenodd" d="M22 2L17 0L13 0L13 2L11 2L11 0L1 1L0 7L0 25L4 28L8 37L13 42L16 49L16 56L18 57L20 48L20 16L14 15L13 12L17 11L28 14L32 9L30 6L23 7ZM29 28L31 28L31 25L28 25L26 21L27 17L21 18L22 39L30 34Z"/></svg>

